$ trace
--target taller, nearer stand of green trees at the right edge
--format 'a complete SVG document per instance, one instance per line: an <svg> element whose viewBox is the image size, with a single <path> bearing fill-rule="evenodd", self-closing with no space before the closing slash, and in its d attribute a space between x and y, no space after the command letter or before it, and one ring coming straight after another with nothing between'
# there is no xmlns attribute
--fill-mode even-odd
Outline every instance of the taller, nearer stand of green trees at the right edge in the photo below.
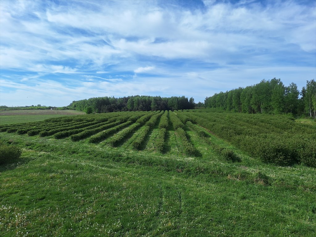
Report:
<svg viewBox="0 0 316 237"><path fill-rule="evenodd" d="M281 79L262 80L260 83L216 93L206 97L207 108L244 113L292 113L308 114L316 118L316 82L307 81L306 87L298 90L295 83L285 86Z"/></svg>

